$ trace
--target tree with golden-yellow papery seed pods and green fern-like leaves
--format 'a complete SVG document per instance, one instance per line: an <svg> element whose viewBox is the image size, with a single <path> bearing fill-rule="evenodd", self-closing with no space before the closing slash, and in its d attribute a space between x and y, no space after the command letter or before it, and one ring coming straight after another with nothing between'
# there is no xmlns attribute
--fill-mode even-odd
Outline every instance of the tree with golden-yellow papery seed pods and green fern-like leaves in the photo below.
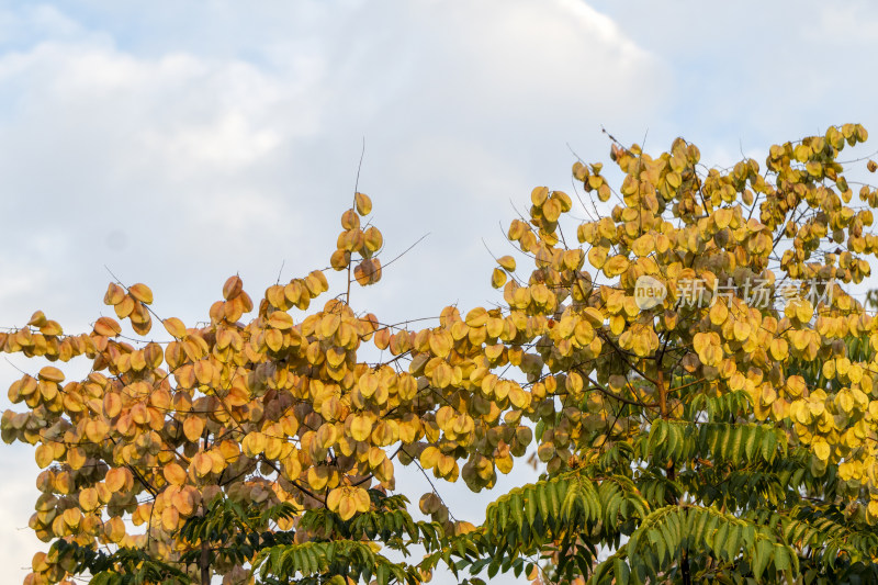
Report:
<svg viewBox="0 0 878 585"><path fill-rule="evenodd" d="M46 365L10 387L27 409L3 414L3 439L46 468L31 526L52 544L27 583L419 583L440 564L559 583L878 578L878 322L844 286L878 251L878 191L849 206L837 158L865 139L831 127L773 146L765 171L612 139L618 192L576 162L576 221L571 196L534 189L508 233L528 269L504 256L492 274L503 304L444 307L420 330L354 312L351 284L382 274L361 193L330 258L348 284L318 311L322 271L256 305L233 277L203 326L161 318L166 341L146 339L144 284L104 297L140 339L35 313L4 351L93 361L78 382ZM545 473L479 527L438 493L419 502L430 521L393 494L396 463L492 488L534 438Z"/></svg>

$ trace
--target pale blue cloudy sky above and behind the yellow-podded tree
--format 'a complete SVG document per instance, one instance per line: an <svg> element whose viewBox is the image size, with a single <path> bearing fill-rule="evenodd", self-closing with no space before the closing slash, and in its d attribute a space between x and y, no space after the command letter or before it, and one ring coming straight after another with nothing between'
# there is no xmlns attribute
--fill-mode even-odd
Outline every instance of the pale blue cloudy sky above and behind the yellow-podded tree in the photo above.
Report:
<svg viewBox="0 0 878 585"><path fill-rule="evenodd" d="M867 1L0 2L0 327L41 308L87 330L110 271L192 323L228 275L260 295L324 268L361 154L385 258L427 237L356 307L492 303L504 227L533 187L572 190L577 156L608 161L601 128L654 153L684 136L709 166L878 133L875 55ZM0 360L1 385L16 368L36 364ZM22 446L0 469L16 583L38 469ZM500 493L440 492L474 522Z"/></svg>

